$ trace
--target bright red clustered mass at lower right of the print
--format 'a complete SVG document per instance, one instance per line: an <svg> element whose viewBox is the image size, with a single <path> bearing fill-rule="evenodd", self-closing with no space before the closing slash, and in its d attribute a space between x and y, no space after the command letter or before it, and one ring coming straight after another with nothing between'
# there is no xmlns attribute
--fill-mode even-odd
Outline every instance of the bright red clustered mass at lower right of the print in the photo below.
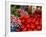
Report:
<svg viewBox="0 0 46 37"><path fill-rule="evenodd" d="M39 14L35 14L32 15L32 17L28 17L28 16L23 16L20 17L21 19L21 30L22 31L35 31L35 30L41 30L42 29L42 19L41 19L41 15Z"/></svg>

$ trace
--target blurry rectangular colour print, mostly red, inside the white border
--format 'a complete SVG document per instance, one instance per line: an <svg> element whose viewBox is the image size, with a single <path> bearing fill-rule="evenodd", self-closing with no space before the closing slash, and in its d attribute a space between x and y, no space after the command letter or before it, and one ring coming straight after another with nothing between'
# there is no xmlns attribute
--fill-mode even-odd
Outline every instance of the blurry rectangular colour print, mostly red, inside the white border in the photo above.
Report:
<svg viewBox="0 0 46 37"><path fill-rule="evenodd" d="M10 31L42 31L42 6L11 5Z"/></svg>

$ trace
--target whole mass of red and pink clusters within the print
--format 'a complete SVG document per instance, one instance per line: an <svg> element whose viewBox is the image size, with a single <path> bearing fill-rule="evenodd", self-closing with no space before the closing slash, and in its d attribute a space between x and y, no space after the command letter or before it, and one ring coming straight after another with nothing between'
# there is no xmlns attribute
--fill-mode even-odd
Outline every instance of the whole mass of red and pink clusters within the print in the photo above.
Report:
<svg viewBox="0 0 46 37"><path fill-rule="evenodd" d="M33 14L28 14L23 9L17 9L16 12L20 15L19 17L11 16L11 23L14 23L16 32L42 30L42 11L40 9L36 9Z"/></svg>

